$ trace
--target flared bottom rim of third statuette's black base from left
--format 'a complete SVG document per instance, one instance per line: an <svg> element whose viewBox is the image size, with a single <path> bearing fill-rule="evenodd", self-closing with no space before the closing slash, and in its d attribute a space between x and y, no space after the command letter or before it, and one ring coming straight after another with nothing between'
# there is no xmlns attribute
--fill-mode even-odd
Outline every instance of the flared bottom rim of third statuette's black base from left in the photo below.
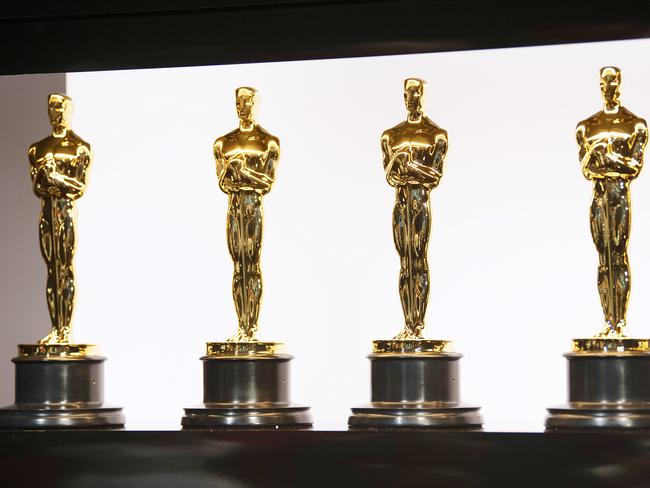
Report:
<svg viewBox="0 0 650 488"><path fill-rule="evenodd" d="M480 407L432 403L370 403L352 409L354 429L472 429L483 427Z"/></svg>

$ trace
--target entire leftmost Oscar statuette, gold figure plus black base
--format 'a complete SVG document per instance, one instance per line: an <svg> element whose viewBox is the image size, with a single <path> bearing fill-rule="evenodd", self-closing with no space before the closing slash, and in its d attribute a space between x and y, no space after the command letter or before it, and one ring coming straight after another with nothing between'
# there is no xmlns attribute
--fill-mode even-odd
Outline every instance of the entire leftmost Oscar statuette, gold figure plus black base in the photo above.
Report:
<svg viewBox="0 0 650 488"><path fill-rule="evenodd" d="M86 187L90 145L70 128L72 100L48 99L52 134L28 151L34 192L41 199L41 254L52 330L20 344L15 404L0 409L2 429L121 428L122 409L104 405L104 360L97 346L72 341L75 201Z"/></svg>

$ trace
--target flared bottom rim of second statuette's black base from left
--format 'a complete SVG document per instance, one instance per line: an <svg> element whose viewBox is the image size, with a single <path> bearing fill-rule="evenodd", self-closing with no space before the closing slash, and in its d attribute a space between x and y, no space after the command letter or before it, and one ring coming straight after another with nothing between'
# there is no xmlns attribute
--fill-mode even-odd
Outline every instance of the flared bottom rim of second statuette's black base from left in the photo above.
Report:
<svg viewBox="0 0 650 488"><path fill-rule="evenodd" d="M310 408L302 405L204 404L184 410L183 430L309 429L313 423Z"/></svg>

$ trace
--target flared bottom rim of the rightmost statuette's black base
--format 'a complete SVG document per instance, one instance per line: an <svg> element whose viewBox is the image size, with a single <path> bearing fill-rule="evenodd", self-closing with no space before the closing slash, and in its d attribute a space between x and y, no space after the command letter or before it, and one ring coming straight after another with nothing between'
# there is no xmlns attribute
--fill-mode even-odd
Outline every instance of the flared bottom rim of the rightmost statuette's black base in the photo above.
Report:
<svg viewBox="0 0 650 488"><path fill-rule="evenodd" d="M650 403L567 404L549 408L546 430L650 429Z"/></svg>

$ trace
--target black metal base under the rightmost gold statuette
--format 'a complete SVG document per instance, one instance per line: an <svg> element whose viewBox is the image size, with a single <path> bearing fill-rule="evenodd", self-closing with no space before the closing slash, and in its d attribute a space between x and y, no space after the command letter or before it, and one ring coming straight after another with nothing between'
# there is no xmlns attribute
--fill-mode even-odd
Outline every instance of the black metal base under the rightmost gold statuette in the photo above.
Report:
<svg viewBox="0 0 650 488"><path fill-rule="evenodd" d="M568 353L565 405L546 430L650 429L650 353Z"/></svg>

